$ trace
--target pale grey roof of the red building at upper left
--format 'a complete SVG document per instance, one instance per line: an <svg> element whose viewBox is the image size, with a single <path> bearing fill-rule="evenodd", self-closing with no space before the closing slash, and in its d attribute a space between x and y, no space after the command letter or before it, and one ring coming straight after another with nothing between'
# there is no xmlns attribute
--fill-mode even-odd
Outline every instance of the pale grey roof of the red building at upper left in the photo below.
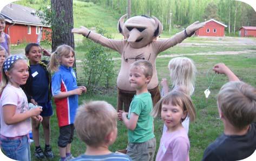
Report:
<svg viewBox="0 0 256 161"><path fill-rule="evenodd" d="M46 26L41 23L41 19L37 17L35 13L35 9L14 3L6 5L1 11L1 15L6 18L6 22L25 25Z"/></svg>

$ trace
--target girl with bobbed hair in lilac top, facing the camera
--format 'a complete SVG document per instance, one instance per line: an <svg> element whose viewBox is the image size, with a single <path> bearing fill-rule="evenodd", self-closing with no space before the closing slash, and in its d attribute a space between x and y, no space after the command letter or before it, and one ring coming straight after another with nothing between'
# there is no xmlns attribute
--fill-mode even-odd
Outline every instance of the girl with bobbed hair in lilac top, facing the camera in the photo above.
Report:
<svg viewBox="0 0 256 161"><path fill-rule="evenodd" d="M195 108L191 98L184 92L174 89L157 102L152 115L161 115L167 127L167 131L161 137L156 161L188 161L190 143L182 122L187 115L191 121L195 120Z"/></svg>

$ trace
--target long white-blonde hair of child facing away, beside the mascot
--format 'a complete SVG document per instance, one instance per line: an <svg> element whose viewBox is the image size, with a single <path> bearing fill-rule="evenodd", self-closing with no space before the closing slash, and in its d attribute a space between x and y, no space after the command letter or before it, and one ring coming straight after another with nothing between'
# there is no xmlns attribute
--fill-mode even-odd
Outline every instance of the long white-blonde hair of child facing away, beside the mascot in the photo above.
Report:
<svg viewBox="0 0 256 161"><path fill-rule="evenodd" d="M195 90L196 68L193 60L186 57L177 57L169 61L170 80L172 89L181 86L186 93L192 95Z"/></svg>

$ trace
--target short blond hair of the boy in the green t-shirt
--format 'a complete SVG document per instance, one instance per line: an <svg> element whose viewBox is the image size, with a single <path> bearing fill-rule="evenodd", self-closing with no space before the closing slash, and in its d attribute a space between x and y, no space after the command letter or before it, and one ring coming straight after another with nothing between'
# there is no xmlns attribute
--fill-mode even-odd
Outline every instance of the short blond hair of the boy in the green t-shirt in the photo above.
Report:
<svg viewBox="0 0 256 161"><path fill-rule="evenodd" d="M153 75L153 66L152 64L147 60L139 60L135 61L133 64L130 65L130 68L140 68L147 78L150 76L152 78Z"/></svg>

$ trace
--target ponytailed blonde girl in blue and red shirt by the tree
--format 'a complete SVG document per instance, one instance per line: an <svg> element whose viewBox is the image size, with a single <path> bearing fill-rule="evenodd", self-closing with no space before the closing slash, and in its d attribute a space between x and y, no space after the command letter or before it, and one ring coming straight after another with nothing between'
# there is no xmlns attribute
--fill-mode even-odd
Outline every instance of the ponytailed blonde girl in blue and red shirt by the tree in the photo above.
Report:
<svg viewBox="0 0 256 161"><path fill-rule="evenodd" d="M49 62L49 71L54 73L51 79L51 90L60 128L58 147L61 161L74 158L70 149L75 129L74 120L78 107L78 95L86 92L86 87L77 86L76 74L72 68L74 62L75 52L68 45L58 46L56 51L51 54Z"/></svg>

